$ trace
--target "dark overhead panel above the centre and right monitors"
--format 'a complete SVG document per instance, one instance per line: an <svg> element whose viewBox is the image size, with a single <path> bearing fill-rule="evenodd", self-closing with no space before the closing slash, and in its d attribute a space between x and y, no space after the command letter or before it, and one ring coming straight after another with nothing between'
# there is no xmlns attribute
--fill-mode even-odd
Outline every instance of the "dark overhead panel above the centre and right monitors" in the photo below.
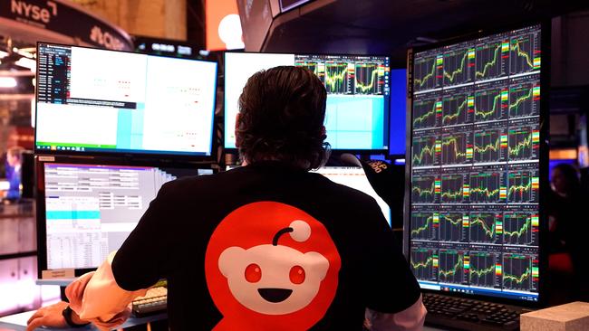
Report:
<svg viewBox="0 0 589 331"><path fill-rule="evenodd" d="M315 0L275 17L262 52L390 54L413 45L524 24L583 9L584 1Z"/></svg>

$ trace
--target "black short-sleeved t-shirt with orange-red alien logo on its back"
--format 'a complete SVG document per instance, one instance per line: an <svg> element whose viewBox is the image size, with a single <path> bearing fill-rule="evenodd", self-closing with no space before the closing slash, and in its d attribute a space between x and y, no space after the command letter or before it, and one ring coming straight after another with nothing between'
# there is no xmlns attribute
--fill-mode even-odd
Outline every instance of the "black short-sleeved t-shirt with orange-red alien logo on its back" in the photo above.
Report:
<svg viewBox="0 0 589 331"><path fill-rule="evenodd" d="M112 271L168 279L172 330L360 330L420 297L372 197L277 162L165 184Z"/></svg>

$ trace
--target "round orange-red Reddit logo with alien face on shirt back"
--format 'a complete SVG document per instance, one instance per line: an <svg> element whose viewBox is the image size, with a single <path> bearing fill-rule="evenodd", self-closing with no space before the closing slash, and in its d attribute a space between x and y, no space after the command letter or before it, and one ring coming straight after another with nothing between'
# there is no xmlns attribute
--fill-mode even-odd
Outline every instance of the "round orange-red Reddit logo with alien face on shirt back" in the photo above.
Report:
<svg viewBox="0 0 589 331"><path fill-rule="evenodd" d="M215 330L306 330L323 318L341 260L329 232L285 203L250 203L219 223L205 260L223 315Z"/></svg>

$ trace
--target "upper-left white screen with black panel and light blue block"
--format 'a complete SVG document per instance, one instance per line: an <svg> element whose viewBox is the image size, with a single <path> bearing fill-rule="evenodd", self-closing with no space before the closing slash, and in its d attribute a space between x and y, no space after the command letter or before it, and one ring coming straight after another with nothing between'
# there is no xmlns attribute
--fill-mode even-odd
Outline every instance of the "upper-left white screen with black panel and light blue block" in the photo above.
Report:
<svg viewBox="0 0 589 331"><path fill-rule="evenodd" d="M210 156L217 63L38 44L35 150Z"/></svg>

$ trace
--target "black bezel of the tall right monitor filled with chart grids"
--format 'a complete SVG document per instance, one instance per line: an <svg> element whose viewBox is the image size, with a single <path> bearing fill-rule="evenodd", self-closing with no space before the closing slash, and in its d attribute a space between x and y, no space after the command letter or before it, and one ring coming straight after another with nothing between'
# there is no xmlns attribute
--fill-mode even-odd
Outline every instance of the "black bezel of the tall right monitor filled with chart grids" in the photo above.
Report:
<svg viewBox="0 0 589 331"><path fill-rule="evenodd" d="M432 43L428 45L423 45L419 47L414 47L408 51L408 61L407 61L407 72L408 72L408 80L407 80L407 88L408 88L408 102L407 102L407 118L406 118L406 151L405 151L405 159L411 159L411 141L412 141L412 100L413 100L413 59L416 52L424 52L437 49L439 47L450 46L456 43L464 43L472 40L476 40L478 38L485 38L488 36L492 36L498 33L508 33L514 30L525 29L532 26L539 26L540 33L541 33L541 52L542 52L542 67L540 70L540 86L542 90L543 98L540 99L540 112L539 112L539 122L540 122L540 152L539 152L539 174L540 174L540 190L539 190L539 199L538 199L538 214L539 214L539 243L538 243L538 271L539 271L539 283L538 283L538 297L537 301L533 300L524 300L524 299L517 299L517 298L505 298L500 296L489 296L483 294L465 294L458 291L453 292L446 292L442 290L433 290L427 288L421 288L421 291L424 293L433 293L433 294L443 294L452 297L458 298L471 298L471 299L480 299L480 300L488 300L498 303L505 303L509 305L514 305L518 307L530 307L530 308L539 308L545 307L547 304L546 298L546 288L547 288L547 268L548 268L548 250L547 250L547 235L548 235L548 217L546 215L546 203L547 203L547 193L550 190L550 183L548 180L548 154L549 154L549 147L548 147L548 133L549 133L549 90L550 90L550 32L551 32L551 23L549 20L533 20L533 21L526 21L521 22L519 24L510 24L510 25L502 25L496 28L488 29L488 30L481 30L477 33L469 33L467 35L463 35L459 38L454 38L451 40L443 41L440 43ZM405 258L410 261L410 183L411 183L411 162L408 161L405 163L405 196L404 196L404 219L403 219L403 253Z"/></svg>

